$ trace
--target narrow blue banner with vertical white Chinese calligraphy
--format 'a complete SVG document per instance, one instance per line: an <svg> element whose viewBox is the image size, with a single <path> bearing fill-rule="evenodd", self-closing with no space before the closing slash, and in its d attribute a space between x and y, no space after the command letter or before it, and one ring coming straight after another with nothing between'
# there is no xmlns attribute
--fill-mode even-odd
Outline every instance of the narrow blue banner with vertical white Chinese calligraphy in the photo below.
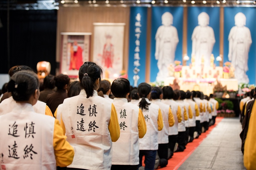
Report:
<svg viewBox="0 0 256 170"><path fill-rule="evenodd" d="M145 82L148 7L131 7L128 78L132 86Z"/></svg>

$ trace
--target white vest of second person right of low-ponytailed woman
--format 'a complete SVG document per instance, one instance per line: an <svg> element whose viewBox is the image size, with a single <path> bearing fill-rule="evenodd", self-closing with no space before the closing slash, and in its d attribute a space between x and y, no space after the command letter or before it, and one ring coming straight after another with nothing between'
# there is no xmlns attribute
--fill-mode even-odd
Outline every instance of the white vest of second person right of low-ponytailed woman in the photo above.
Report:
<svg viewBox="0 0 256 170"><path fill-rule="evenodd" d="M163 103L169 105L172 110L172 114L174 117L174 125L172 127L169 127L169 135L178 135L178 117L177 117L177 112L178 112L178 103L172 99L163 99Z"/></svg>

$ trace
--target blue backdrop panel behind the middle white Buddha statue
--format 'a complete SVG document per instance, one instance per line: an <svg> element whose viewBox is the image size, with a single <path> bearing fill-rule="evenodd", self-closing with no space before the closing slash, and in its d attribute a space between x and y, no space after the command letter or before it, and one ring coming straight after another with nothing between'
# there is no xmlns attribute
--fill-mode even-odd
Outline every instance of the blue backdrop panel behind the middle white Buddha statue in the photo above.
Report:
<svg viewBox="0 0 256 170"><path fill-rule="evenodd" d="M214 63L219 66L219 62L216 61L216 57L220 55L220 8L219 7L188 7L188 56L191 63L192 54L192 33L196 26L198 26L198 15L205 12L209 16L209 25L214 32L215 43L212 48L212 54L215 57ZM202 32L201 32L202 33ZM200 33L200 34L201 34ZM195 35L196 36L196 35ZM208 37L208 40L210 37Z"/></svg>

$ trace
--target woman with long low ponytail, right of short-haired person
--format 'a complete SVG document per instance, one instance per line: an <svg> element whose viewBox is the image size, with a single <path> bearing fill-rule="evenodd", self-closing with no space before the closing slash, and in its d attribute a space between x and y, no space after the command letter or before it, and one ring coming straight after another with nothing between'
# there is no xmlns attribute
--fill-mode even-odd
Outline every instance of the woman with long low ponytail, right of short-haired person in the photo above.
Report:
<svg viewBox="0 0 256 170"><path fill-rule="evenodd" d="M139 167L142 166L142 157L145 155L145 169L154 170L156 151L158 149L158 131L164 127L163 117L159 106L149 101L151 94L151 86L149 84L140 83L138 94L141 97L138 106L142 110L147 125L146 135L139 140Z"/></svg>

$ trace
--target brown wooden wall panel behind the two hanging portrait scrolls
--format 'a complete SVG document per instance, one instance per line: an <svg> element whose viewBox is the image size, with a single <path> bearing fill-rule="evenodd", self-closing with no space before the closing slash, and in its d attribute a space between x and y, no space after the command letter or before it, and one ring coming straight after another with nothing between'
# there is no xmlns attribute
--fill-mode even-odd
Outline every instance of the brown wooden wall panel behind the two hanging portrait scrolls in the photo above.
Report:
<svg viewBox="0 0 256 170"><path fill-rule="evenodd" d="M60 48L62 32L92 33L91 54L93 56L93 23L125 23L124 27L124 59L123 69L128 69L128 48L129 48L129 7L60 7L58 10L57 23L57 50L56 62L60 62Z"/></svg>

